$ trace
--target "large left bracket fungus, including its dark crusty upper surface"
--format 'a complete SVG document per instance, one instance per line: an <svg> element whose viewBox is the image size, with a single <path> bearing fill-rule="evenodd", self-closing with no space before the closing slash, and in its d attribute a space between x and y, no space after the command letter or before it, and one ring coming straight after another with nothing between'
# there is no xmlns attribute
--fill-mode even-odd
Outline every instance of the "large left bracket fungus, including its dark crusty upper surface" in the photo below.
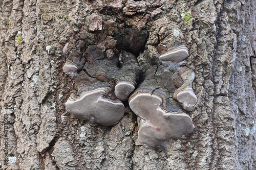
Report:
<svg viewBox="0 0 256 170"><path fill-rule="evenodd" d="M111 95L108 83L98 82L81 72L75 80L77 93L72 93L65 103L66 110L77 118L110 126L119 122L124 105Z"/></svg>

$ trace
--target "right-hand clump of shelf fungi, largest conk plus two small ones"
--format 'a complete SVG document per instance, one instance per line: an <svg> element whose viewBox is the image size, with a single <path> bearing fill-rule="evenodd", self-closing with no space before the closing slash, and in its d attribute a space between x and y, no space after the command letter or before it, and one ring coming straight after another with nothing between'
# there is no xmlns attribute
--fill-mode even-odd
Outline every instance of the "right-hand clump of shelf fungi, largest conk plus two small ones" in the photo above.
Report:
<svg viewBox="0 0 256 170"><path fill-rule="evenodd" d="M164 147L172 139L191 133L193 122L175 100L186 111L193 111L197 103L191 86L195 74L183 62L189 56L186 46L177 44L167 49L160 44L157 48L162 64L146 69L143 82L129 98L131 109L139 117L138 139L146 148Z"/></svg>

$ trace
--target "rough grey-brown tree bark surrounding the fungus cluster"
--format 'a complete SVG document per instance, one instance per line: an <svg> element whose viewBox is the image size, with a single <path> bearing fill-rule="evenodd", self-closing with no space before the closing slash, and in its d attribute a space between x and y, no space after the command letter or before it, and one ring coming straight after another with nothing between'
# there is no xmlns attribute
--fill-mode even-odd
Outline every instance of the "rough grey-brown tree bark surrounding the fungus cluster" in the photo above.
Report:
<svg viewBox="0 0 256 170"><path fill-rule="evenodd" d="M0 168L256 169L255 8L254 0L0 1ZM146 149L127 102L110 127L66 111L74 83L62 72L67 42L75 50L86 32L87 46L111 54L105 42L112 39L98 35L120 32L125 39L146 30L146 42L134 40L142 46L131 36L119 48L153 54L161 34L174 34L169 22L184 36L187 67L196 74L198 102L187 113L193 133L166 149Z"/></svg>

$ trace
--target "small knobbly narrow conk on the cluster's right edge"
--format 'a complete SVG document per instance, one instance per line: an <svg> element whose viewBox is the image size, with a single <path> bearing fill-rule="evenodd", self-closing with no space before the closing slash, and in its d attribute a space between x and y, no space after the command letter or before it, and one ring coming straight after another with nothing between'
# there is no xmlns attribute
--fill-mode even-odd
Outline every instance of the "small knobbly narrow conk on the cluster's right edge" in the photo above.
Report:
<svg viewBox="0 0 256 170"><path fill-rule="evenodd" d="M195 109L194 106L197 104L197 96L192 89L195 73L187 67L180 67L178 74L184 81L184 84L175 91L173 98L181 103L184 110L193 111Z"/></svg>

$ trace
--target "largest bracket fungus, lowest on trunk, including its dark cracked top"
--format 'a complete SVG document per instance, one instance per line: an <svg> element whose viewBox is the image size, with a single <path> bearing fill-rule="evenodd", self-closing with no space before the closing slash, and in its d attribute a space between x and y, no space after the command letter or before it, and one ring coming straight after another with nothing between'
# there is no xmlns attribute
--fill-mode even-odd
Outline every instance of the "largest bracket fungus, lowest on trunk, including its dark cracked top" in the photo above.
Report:
<svg viewBox="0 0 256 170"><path fill-rule="evenodd" d="M170 98L177 89L174 81L181 82L177 80L181 78L174 71L166 70L164 65L147 69L144 76L129 98L130 108L140 117L138 139L142 145L158 148L191 133L194 129L191 118Z"/></svg>

